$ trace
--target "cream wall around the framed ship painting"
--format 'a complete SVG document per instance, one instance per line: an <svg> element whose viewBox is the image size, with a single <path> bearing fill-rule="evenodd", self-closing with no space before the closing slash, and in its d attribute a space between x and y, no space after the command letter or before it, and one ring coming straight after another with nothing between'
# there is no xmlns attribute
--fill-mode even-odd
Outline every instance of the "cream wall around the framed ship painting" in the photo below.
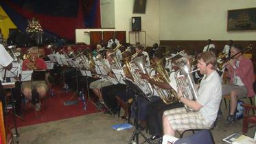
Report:
<svg viewBox="0 0 256 144"><path fill-rule="evenodd" d="M160 0L160 39L255 40L256 31L226 31L227 10L255 7L255 0Z"/></svg>

